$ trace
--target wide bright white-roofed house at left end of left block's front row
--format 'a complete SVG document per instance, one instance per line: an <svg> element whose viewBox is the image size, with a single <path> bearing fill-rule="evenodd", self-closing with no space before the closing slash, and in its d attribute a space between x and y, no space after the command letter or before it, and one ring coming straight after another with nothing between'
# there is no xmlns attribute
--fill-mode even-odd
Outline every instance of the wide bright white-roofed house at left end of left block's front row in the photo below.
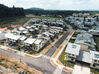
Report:
<svg viewBox="0 0 99 74"><path fill-rule="evenodd" d="M6 41L8 42L9 45L13 46L13 45L17 45L20 39L20 35L14 35L12 33L6 33L5 34L6 37Z"/></svg>

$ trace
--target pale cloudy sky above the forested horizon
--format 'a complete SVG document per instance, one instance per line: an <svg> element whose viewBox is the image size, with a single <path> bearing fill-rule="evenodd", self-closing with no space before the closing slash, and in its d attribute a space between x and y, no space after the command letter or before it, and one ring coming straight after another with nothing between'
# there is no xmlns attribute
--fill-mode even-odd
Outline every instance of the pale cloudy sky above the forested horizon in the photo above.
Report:
<svg viewBox="0 0 99 74"><path fill-rule="evenodd" d="M99 0L0 0L12 7L44 8L49 10L99 10Z"/></svg>

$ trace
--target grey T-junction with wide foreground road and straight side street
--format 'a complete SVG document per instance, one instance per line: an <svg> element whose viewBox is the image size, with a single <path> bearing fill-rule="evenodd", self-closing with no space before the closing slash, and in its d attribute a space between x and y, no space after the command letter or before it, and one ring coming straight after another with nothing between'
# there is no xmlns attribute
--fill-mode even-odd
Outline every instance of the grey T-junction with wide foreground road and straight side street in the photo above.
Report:
<svg viewBox="0 0 99 74"><path fill-rule="evenodd" d="M17 60L20 60L25 62L29 67L35 68L44 74L71 74L71 72L63 71L63 67L55 67L51 64L51 56L55 53L55 51L58 49L58 47L64 42L64 40L68 37L68 35L72 31L67 31L45 54L41 54L39 57L33 58L33 57L27 57L27 56L21 56L14 51L9 50L0 50L0 52L6 54L7 56L11 56L13 58L16 58Z"/></svg>

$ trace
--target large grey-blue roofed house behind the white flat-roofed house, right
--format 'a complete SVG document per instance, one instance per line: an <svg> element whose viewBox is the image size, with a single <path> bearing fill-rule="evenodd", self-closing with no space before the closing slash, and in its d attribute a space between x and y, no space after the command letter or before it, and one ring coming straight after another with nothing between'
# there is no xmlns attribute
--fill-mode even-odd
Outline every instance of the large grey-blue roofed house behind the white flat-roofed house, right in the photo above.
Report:
<svg viewBox="0 0 99 74"><path fill-rule="evenodd" d="M75 43L81 45L81 50L95 50L96 43L92 35L88 33L78 34Z"/></svg>

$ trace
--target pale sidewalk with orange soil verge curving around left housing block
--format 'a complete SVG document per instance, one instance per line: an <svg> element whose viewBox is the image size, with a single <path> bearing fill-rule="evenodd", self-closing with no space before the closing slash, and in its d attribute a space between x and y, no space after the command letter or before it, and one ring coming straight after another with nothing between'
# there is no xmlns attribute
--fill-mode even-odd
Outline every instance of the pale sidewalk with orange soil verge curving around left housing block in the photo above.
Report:
<svg viewBox="0 0 99 74"><path fill-rule="evenodd" d="M63 32L63 34L64 34L64 33L65 33L65 32ZM62 34L62 35L63 35L63 34ZM62 35L60 35L59 38L61 38ZM58 38L58 39L59 39L59 38ZM49 44L47 47L45 47L40 53L33 54L33 55L28 54L28 53L25 53L25 52L22 52L22 51L20 52L20 51L18 51L18 50L15 50L15 49L12 49L12 48L10 48L10 47L3 46L3 45L0 45L0 48L5 49L5 50L9 50L9 51L14 51L14 52L16 52L17 54L19 54L19 55L21 55L21 56L28 56L28 57L38 58L38 57L42 56L43 54L45 54L45 53L57 42L58 39L55 39L54 42L50 43L50 44Z"/></svg>

